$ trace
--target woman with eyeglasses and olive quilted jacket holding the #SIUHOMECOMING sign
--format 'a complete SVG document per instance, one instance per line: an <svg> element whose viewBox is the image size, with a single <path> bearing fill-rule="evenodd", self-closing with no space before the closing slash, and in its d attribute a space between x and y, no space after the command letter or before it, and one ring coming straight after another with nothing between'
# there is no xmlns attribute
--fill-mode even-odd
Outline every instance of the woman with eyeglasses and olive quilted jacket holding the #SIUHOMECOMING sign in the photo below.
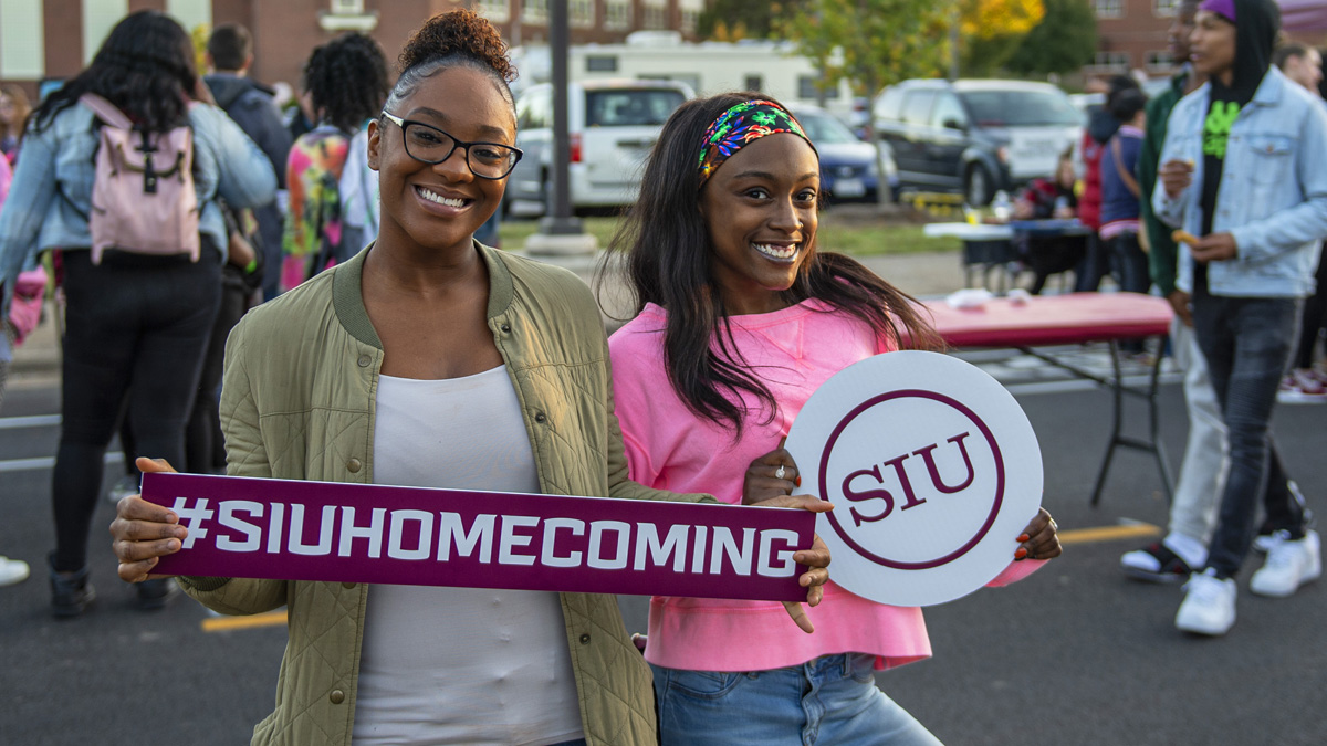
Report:
<svg viewBox="0 0 1327 746"><path fill-rule="evenodd" d="M699 500L626 479L608 342L572 273L478 244L520 158L492 27L430 20L370 123L381 228L244 317L222 396L228 473L322 482ZM139 459L145 471L167 466ZM137 496L121 577L187 531ZM828 552L798 552L819 599ZM255 743L656 743L650 672L613 596L180 577L223 613L289 609ZM792 624L792 621L788 621Z"/></svg>

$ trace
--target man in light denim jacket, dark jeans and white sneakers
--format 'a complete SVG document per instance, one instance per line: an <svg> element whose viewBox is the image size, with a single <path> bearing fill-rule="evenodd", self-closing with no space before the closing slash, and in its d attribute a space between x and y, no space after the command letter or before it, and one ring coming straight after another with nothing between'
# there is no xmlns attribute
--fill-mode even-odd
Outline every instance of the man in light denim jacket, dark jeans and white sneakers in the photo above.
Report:
<svg viewBox="0 0 1327 746"><path fill-rule="evenodd" d="M1194 634L1234 627L1234 576L1259 503L1277 531L1250 589L1285 597L1322 572L1318 532L1286 488L1269 430L1327 235L1327 108L1271 65L1279 25L1271 0L1198 7L1190 46L1208 82L1170 113L1153 195L1157 216L1193 236L1176 285L1189 293L1229 441L1208 559L1174 616L1177 629Z"/></svg>

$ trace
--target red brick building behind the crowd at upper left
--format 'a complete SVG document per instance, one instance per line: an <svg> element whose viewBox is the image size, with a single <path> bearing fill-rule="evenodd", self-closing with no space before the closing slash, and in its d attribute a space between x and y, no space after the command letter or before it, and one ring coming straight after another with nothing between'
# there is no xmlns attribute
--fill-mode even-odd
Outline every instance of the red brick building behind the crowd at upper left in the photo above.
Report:
<svg viewBox="0 0 1327 746"><path fill-rule="evenodd" d="M468 7L488 17L512 45L548 40L548 8L557 0L0 0L0 81L36 94L38 81L81 70L126 13L165 11L184 28L242 23L253 33L252 74L297 84L309 52L342 31L362 31L394 60L425 19ZM565 0L572 41L620 42L641 29L673 29L694 38L705 0Z"/></svg>

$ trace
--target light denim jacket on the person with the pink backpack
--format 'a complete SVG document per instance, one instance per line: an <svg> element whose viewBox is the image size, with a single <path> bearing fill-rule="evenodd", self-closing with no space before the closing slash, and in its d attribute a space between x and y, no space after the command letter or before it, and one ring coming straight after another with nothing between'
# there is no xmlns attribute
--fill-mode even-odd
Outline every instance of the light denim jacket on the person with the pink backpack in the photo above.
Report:
<svg viewBox="0 0 1327 746"><path fill-rule="evenodd" d="M199 232L224 252L226 220L215 196L232 207L267 204L276 195L276 174L263 151L220 109L192 106L188 122L194 129L194 188L203 206ZM0 210L0 311L8 312L13 279L32 256L92 244L84 215L90 212L96 154L93 113L82 104L60 112L41 130L28 130L9 198Z"/></svg>

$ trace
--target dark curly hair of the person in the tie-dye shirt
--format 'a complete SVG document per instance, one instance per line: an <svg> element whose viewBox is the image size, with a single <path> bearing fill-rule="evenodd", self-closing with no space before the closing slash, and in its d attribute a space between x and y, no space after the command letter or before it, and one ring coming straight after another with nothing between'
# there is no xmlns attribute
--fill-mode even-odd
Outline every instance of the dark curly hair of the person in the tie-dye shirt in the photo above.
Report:
<svg viewBox="0 0 1327 746"><path fill-rule="evenodd" d="M320 121L354 131L377 117L387 96L387 58L378 42L346 33L313 50L304 65L304 90Z"/></svg>

